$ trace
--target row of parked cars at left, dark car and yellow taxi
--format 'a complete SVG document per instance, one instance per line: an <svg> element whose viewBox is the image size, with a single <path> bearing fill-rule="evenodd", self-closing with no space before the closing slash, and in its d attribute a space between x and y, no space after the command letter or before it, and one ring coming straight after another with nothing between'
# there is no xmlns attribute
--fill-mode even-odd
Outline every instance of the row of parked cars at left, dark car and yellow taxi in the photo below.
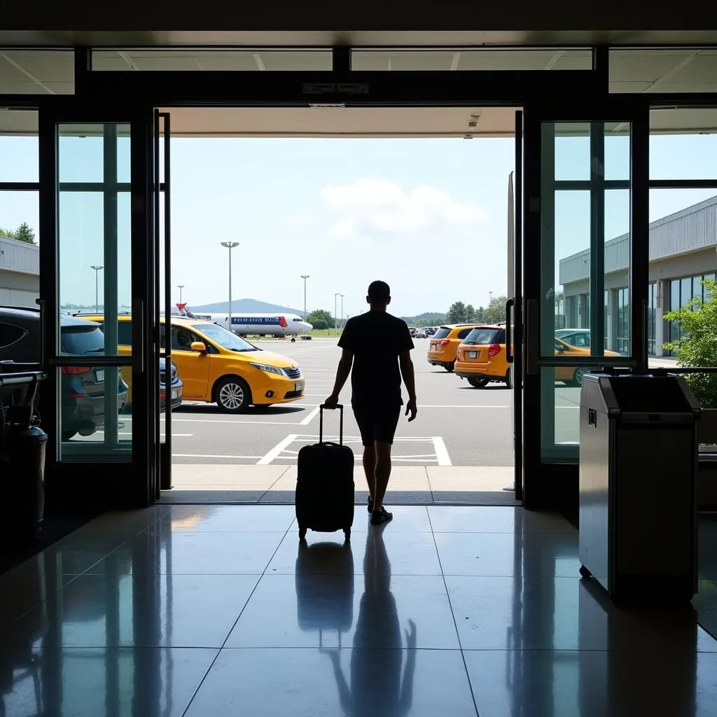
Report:
<svg viewBox="0 0 717 717"><path fill-rule="evenodd" d="M164 346L161 319L161 351ZM62 356L103 356L105 318L101 314L60 316ZM159 402L171 409L183 400L217 403L225 412L241 413L251 405L269 406L303 397L301 369L291 359L261 348L207 320L171 317L172 361L159 356ZM118 354L132 353L132 316L118 316ZM39 310L0 307L0 361L40 361ZM62 440L89 436L105 423L105 383L117 371L118 413L132 405L130 366L62 366ZM114 384L115 381L110 383Z"/></svg>

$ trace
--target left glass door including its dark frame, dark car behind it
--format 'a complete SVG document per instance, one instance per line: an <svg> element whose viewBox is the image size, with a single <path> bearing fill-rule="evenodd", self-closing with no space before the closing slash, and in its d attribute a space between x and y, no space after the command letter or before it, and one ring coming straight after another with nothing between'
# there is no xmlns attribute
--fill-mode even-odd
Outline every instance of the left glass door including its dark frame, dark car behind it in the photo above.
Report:
<svg viewBox="0 0 717 717"><path fill-rule="evenodd" d="M41 115L40 127L48 475L84 485L90 503L144 503L151 202L136 178L146 176L151 135L138 120L66 108Z"/></svg>

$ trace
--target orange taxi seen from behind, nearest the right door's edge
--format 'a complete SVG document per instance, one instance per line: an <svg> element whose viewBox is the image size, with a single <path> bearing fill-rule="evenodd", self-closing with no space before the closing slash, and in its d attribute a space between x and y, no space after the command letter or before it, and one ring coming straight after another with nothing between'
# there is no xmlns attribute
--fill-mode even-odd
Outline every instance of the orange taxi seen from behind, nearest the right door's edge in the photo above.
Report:
<svg viewBox="0 0 717 717"><path fill-rule="evenodd" d="M505 325L476 326L458 346L455 374L475 389L490 381L504 381L511 388L511 365L505 352Z"/></svg>

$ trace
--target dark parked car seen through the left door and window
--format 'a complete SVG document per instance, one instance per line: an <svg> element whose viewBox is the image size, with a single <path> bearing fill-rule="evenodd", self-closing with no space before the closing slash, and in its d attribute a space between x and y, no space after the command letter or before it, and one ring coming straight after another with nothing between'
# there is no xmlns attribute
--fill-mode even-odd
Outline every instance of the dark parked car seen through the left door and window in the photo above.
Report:
<svg viewBox="0 0 717 717"><path fill-rule="evenodd" d="M0 307L0 361L39 364L40 316L32 308ZM102 356L105 335L96 324L60 317L60 351L65 356ZM127 402L127 384L114 367L63 366L61 392L62 440L79 433L92 435L105 423L105 374L118 373L118 409Z"/></svg>

